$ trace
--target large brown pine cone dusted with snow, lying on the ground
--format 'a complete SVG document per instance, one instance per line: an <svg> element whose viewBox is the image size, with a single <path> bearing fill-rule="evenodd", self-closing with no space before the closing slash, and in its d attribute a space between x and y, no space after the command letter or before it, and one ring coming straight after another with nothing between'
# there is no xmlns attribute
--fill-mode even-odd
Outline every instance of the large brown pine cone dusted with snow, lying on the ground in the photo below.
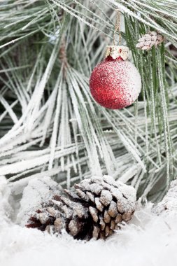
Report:
<svg viewBox="0 0 177 266"><path fill-rule="evenodd" d="M59 192L60 193L60 192ZM74 191L63 190L29 219L27 228L60 233L76 239L106 239L122 221L129 221L136 208L136 191L111 176L85 179Z"/></svg>

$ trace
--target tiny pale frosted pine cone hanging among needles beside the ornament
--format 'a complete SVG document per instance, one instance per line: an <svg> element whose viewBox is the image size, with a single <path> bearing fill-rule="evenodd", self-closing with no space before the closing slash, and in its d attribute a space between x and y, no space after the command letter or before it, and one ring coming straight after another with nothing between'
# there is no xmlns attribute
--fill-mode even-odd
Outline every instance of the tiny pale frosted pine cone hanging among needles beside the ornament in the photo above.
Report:
<svg viewBox="0 0 177 266"><path fill-rule="evenodd" d="M157 34L156 31L148 31L148 34L139 38L139 43L136 44L136 48L150 50L153 45L157 46L163 41L164 37L161 34Z"/></svg>

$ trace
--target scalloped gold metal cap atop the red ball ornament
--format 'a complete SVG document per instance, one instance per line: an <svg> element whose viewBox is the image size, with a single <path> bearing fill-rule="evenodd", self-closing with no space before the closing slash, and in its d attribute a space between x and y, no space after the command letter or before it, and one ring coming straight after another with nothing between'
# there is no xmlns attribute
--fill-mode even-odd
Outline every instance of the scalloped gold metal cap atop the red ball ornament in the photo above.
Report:
<svg viewBox="0 0 177 266"><path fill-rule="evenodd" d="M121 57L123 60L129 59L129 48L127 46L107 45L106 57L111 56L113 59Z"/></svg>

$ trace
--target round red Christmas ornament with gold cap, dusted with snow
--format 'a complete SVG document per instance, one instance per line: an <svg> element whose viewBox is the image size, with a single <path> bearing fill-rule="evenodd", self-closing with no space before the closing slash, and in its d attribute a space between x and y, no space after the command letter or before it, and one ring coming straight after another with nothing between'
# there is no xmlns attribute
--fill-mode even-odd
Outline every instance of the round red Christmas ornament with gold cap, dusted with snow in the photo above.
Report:
<svg viewBox="0 0 177 266"><path fill-rule="evenodd" d="M90 92L101 106L122 109L138 98L141 76L128 57L129 48L107 46L106 59L92 71Z"/></svg>

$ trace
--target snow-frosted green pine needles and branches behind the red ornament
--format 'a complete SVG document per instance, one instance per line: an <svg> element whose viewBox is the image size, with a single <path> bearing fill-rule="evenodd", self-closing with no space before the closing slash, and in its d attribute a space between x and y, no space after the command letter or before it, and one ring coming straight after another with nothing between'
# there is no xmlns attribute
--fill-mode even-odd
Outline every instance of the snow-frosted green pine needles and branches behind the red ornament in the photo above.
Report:
<svg viewBox="0 0 177 266"><path fill-rule="evenodd" d="M62 185L111 174L160 200L176 177L176 1L2 1L0 170L10 181L53 176ZM119 111L90 96L90 72L113 39L142 78L139 102ZM123 23L123 18L125 23ZM136 49L148 30L164 45Z"/></svg>

